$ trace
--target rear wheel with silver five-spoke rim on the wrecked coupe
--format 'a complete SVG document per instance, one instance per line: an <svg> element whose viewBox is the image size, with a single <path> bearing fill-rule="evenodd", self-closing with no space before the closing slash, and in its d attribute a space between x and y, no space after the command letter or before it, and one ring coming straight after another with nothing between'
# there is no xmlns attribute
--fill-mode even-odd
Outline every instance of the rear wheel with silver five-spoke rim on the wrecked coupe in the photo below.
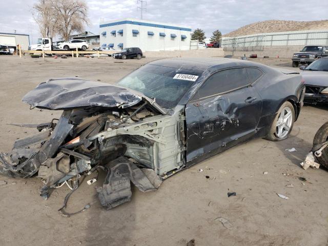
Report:
<svg viewBox="0 0 328 246"><path fill-rule="evenodd" d="M265 139L271 141L281 141L288 138L295 121L295 110L289 101L285 101L278 110L272 122L269 134Z"/></svg>

